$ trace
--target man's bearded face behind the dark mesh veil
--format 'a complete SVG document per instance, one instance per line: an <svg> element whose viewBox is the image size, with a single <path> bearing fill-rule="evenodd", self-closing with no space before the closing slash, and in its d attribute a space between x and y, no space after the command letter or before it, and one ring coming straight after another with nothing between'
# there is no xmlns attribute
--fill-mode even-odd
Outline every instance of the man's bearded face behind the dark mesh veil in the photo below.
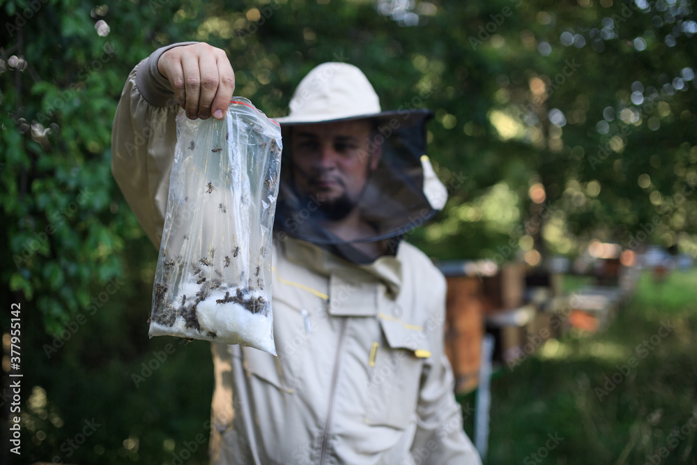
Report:
<svg viewBox="0 0 697 465"><path fill-rule="evenodd" d="M378 166L379 153L369 139L371 128L365 120L293 128L293 183L298 195L314 196L330 220L353 210L370 172Z"/></svg>

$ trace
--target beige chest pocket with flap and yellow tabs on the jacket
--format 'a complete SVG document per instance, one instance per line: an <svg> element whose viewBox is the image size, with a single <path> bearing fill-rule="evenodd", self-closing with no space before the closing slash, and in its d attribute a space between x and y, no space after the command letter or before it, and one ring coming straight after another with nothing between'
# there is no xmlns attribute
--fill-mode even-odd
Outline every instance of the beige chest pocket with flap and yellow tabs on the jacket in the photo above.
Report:
<svg viewBox="0 0 697 465"><path fill-rule="evenodd" d="M378 314L384 339L372 346L365 422L405 429L416 419L429 339L420 326Z"/></svg>

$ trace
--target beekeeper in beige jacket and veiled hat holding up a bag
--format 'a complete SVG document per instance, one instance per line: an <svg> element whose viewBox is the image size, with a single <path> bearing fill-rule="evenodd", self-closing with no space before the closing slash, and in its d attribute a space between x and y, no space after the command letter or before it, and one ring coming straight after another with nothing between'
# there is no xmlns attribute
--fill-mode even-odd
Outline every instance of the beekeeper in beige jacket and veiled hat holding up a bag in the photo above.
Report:
<svg viewBox="0 0 697 465"><path fill-rule="evenodd" d="M155 247L175 116L221 119L233 90L226 54L204 43L158 49L128 77L112 172ZM424 155L430 113L381 111L348 63L314 68L290 109L277 119L278 357L212 344L211 463L480 464L444 352L445 279L401 240L445 204Z"/></svg>

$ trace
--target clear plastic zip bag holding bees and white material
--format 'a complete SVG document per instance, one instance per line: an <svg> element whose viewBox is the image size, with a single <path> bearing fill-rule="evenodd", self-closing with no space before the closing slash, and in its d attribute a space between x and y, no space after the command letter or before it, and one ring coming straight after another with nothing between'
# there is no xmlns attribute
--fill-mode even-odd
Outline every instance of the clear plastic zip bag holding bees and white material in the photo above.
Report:
<svg viewBox="0 0 697 465"><path fill-rule="evenodd" d="M270 249L279 125L238 97L222 121L181 111L176 124L149 335L276 355Z"/></svg>

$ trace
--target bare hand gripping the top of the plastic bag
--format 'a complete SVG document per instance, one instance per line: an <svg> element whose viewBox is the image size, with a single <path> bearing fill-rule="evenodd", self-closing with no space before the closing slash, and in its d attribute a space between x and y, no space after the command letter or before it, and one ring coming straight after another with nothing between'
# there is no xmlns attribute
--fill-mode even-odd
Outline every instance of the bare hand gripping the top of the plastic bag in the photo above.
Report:
<svg viewBox="0 0 697 465"><path fill-rule="evenodd" d="M206 43L174 47L160 56L158 70L187 118L223 118L235 91L235 72L223 50Z"/></svg>

